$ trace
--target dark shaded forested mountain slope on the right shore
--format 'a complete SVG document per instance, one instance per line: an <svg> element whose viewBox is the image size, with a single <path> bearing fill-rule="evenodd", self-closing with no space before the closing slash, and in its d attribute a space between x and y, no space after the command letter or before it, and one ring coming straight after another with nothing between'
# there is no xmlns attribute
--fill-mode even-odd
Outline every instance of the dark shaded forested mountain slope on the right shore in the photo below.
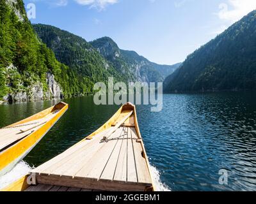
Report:
<svg viewBox="0 0 256 204"><path fill-rule="evenodd" d="M189 55L165 92L256 89L256 11Z"/></svg>

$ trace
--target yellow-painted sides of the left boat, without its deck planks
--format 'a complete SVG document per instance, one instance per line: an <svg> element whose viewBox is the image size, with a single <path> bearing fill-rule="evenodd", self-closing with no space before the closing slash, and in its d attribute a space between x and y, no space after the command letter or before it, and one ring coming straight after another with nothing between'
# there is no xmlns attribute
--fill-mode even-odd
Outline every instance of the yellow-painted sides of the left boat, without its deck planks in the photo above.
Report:
<svg viewBox="0 0 256 204"><path fill-rule="evenodd" d="M66 103L58 103L57 105L47 108L46 110L36 113L35 115L28 117L27 119L16 122L6 128L12 128L17 126L22 126L33 120L44 119L49 113L56 112L54 117L51 120L45 122L37 128L35 131L31 132L28 136L25 136L21 140L18 140L10 147L6 147L3 151L0 152L0 175L12 170L15 164L19 163L32 149L35 145L44 137L44 135L54 126L54 124L60 119L60 117L67 111L68 105Z"/></svg>

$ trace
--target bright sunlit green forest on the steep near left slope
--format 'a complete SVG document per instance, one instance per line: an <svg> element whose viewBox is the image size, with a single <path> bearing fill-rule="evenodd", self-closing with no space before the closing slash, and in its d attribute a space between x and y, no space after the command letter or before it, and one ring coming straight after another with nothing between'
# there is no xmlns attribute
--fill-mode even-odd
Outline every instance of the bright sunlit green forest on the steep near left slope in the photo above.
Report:
<svg viewBox="0 0 256 204"><path fill-rule="evenodd" d="M65 97L92 92L93 83L57 61L36 36L22 0L0 1L0 100L8 93L28 92L34 84L47 92L47 73Z"/></svg>

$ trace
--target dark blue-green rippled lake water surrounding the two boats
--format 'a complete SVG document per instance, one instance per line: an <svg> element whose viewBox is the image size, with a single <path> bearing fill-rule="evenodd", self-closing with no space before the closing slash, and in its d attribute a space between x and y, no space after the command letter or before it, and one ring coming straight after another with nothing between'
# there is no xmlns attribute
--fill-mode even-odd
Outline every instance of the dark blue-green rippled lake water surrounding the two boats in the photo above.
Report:
<svg viewBox="0 0 256 204"><path fill-rule="evenodd" d="M118 106L65 99L68 112L24 159L38 166L99 128ZM0 127L58 101L0 106ZM164 94L163 111L137 106L154 173L172 191L256 191L256 93ZM18 168L18 167L17 167ZM227 170L227 185L219 183ZM1 179L0 179L1 180Z"/></svg>

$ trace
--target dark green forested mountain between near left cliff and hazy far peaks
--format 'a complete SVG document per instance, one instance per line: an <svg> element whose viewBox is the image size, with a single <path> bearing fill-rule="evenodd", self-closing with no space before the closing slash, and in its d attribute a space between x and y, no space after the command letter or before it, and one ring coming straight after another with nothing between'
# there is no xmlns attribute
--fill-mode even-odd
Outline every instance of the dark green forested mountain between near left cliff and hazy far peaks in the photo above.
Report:
<svg viewBox="0 0 256 204"><path fill-rule="evenodd" d="M75 34L51 25L33 25L39 38L51 48L56 59L89 82L106 82L108 77L127 80L97 52L90 43Z"/></svg>

